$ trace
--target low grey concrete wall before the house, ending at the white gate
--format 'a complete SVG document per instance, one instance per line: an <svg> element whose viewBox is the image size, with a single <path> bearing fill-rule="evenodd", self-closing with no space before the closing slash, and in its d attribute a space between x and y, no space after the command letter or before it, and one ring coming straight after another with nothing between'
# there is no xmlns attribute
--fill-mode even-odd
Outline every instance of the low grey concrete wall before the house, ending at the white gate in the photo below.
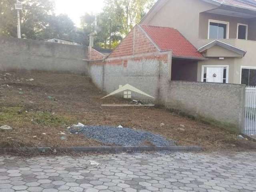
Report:
<svg viewBox="0 0 256 192"><path fill-rule="evenodd" d="M245 85L172 81L162 101L167 108L207 120L244 126Z"/></svg>

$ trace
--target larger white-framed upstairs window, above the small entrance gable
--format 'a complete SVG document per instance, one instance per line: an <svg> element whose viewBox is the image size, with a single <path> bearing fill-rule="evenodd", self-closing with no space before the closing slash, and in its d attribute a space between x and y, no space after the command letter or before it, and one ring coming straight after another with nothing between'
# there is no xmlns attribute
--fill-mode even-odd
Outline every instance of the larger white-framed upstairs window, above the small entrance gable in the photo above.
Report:
<svg viewBox="0 0 256 192"><path fill-rule="evenodd" d="M229 23L209 20L208 39L228 39Z"/></svg>

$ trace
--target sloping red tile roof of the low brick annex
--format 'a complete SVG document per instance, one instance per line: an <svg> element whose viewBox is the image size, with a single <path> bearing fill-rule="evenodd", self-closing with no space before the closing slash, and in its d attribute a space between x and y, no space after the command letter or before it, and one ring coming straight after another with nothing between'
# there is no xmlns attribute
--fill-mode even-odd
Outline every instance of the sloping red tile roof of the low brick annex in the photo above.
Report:
<svg viewBox="0 0 256 192"><path fill-rule="evenodd" d="M172 50L173 57L204 58L178 30L169 27L140 26L161 51Z"/></svg>

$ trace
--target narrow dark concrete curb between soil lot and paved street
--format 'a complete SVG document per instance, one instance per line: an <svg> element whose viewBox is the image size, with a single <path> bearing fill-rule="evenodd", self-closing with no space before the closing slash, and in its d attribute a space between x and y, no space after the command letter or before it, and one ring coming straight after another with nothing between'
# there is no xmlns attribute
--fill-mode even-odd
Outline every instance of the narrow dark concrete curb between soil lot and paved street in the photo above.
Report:
<svg viewBox="0 0 256 192"><path fill-rule="evenodd" d="M20 148L0 148L0 153L15 153L15 152L54 152L56 149L57 152L98 152L98 153L120 153L120 152L140 152L140 151L201 151L202 147L198 146L170 146L170 147L59 147L59 148L51 148L51 147L20 147Z"/></svg>

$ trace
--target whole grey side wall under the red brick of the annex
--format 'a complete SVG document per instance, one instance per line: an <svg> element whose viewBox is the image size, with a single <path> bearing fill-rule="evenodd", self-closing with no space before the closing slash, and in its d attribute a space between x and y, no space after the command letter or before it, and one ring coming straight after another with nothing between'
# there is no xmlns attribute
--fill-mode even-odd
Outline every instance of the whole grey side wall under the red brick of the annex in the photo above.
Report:
<svg viewBox="0 0 256 192"><path fill-rule="evenodd" d="M92 81L101 90L111 93L119 88L130 84L141 91L159 97L160 88L167 83L168 64L158 59L145 59L140 61L128 60L127 64L91 64L90 76ZM161 71L161 72L160 72ZM161 76L159 75L161 73ZM132 93L138 99L148 99L147 96Z"/></svg>

